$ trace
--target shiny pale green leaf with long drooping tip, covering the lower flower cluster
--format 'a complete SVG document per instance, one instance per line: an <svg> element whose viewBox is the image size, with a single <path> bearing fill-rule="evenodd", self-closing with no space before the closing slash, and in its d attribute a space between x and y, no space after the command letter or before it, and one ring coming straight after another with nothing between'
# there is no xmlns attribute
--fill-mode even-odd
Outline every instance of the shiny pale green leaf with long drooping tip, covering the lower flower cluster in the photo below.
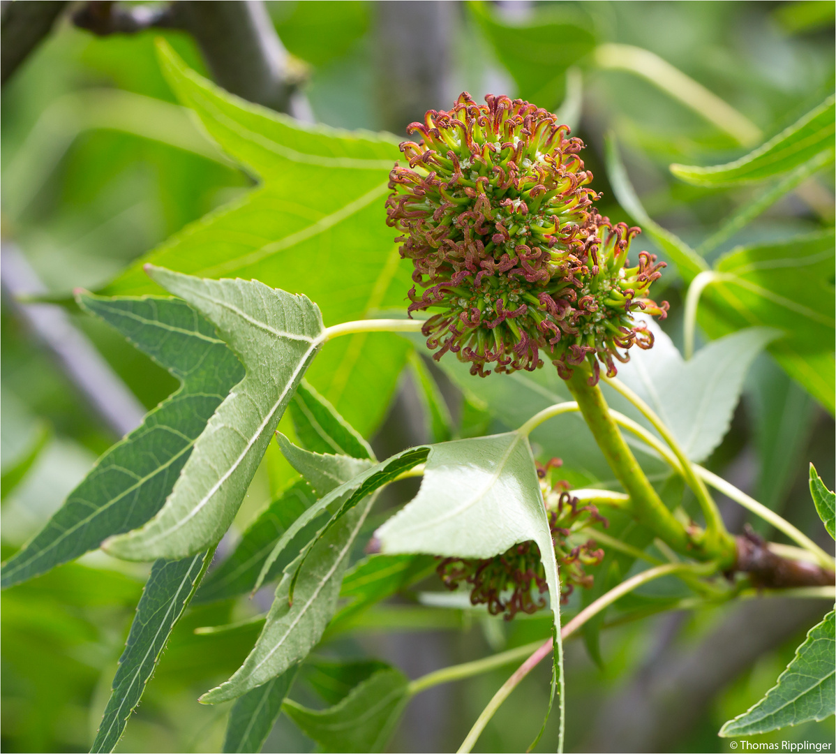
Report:
<svg viewBox="0 0 836 754"><path fill-rule="evenodd" d="M543 494L528 438L517 431L431 446L418 495L381 526L380 552L492 558L533 540L546 572L560 684L563 745L563 647L560 582ZM553 684L554 690L554 684Z"/></svg>

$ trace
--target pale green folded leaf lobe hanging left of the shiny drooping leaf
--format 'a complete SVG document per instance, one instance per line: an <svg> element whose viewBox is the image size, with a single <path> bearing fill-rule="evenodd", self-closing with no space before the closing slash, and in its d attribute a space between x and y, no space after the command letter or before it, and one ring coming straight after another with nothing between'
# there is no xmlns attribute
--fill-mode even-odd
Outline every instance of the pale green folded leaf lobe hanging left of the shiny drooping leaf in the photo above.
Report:
<svg viewBox="0 0 836 754"><path fill-rule="evenodd" d="M282 675L308 655L337 608L339 585L349 555L373 502L373 498L368 498L354 506L314 543L299 569L293 604L289 599L290 585L301 556L288 565L255 647L232 678L207 691L201 701L217 704L242 696Z"/></svg>

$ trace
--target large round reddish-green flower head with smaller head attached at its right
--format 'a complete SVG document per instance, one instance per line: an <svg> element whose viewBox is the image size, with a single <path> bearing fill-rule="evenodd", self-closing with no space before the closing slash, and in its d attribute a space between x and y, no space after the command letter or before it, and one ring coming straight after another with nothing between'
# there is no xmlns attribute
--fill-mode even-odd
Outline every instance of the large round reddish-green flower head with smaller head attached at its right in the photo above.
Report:
<svg viewBox="0 0 836 754"><path fill-rule="evenodd" d="M400 145L409 166L390 173L387 222L415 267L409 312L431 314L436 359L451 351L472 374L533 371L542 353L563 377L584 362L595 381L599 363L614 375L619 349L653 342L632 313L665 316L646 297L664 262L640 252L630 267L640 230L594 209L568 126L522 99L485 99L461 94L411 124L422 140Z"/></svg>

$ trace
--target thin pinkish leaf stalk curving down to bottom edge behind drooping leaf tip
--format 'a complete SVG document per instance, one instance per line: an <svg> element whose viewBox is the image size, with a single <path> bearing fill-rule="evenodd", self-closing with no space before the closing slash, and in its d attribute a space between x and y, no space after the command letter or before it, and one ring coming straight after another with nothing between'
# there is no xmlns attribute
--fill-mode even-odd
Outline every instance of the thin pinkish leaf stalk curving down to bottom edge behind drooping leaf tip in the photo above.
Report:
<svg viewBox="0 0 836 754"><path fill-rule="evenodd" d="M590 618L599 614L604 608L609 607L609 605L613 604L617 599L624 597L624 594L628 594L633 591L633 589L639 588L642 584L653 581L655 578L668 576L671 573L676 573L677 571L708 573L709 568L713 571L716 568L716 563L706 563L701 566L694 566L691 563L666 563L665 565L648 568L646 571L637 573L634 577L628 578L626 581L619 583L617 587L610 589L607 594L602 595L596 599L594 603L581 610L579 614L568 622L568 624L563 626L563 629L560 631L560 637L562 640L568 639L570 635L577 631ZM487 726L488 721L491 720L499 707L502 706L502 702L505 701L509 695L511 695L511 692L516 689L517 685L520 684L523 678L525 678L526 675L528 675L538 665L540 660L543 660L544 657L548 657L548 655L552 653L552 645L553 639L548 639L546 642L541 644L528 658L528 660L526 660L523 665L520 665L517 670L514 671L514 674L502 684L500 689L497 690L497 693L493 695L492 700L489 701L485 709L482 710L482 714L473 724L473 727L467 734L465 740L462 741L461 746L459 746L458 754L472 751L479 736L482 735L482 731L485 730L485 726Z"/></svg>

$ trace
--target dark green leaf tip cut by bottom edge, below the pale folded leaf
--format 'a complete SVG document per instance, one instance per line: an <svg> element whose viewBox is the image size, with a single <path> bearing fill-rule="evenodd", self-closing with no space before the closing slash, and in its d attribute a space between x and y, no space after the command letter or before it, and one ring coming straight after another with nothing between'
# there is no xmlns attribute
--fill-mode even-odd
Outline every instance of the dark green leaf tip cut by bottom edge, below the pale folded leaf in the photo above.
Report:
<svg viewBox="0 0 836 754"><path fill-rule="evenodd" d="M298 667L294 666L278 678L248 691L232 705L227 736L223 740L224 752L262 750L282 714L282 704L296 680L297 671Z"/></svg>

